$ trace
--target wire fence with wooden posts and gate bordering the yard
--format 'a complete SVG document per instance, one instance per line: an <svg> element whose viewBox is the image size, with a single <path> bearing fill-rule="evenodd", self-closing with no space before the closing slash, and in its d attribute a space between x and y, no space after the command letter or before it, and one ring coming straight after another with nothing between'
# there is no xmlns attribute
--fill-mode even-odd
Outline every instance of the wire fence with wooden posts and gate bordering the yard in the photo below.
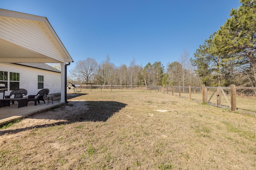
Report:
<svg viewBox="0 0 256 170"><path fill-rule="evenodd" d="M78 85L77 91L112 92L161 92L173 96L203 102L202 87L190 86L120 86L120 85ZM218 107L231 107L230 87L206 87L207 103ZM236 109L256 115L256 87L236 87Z"/></svg>

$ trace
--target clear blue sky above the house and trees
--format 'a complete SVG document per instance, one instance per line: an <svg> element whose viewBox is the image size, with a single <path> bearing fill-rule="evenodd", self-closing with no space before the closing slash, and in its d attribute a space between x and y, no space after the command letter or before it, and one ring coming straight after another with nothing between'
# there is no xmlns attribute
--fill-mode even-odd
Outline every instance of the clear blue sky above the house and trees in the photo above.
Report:
<svg viewBox="0 0 256 170"><path fill-rule="evenodd" d="M0 0L0 8L44 16L74 63L87 57L98 63L129 66L190 57L238 8L239 0Z"/></svg>

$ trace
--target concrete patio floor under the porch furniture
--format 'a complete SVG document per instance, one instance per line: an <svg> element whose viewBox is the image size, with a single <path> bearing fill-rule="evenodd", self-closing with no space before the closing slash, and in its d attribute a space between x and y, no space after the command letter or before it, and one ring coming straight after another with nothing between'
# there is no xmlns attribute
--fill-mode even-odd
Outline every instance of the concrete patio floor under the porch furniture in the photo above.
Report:
<svg viewBox="0 0 256 170"><path fill-rule="evenodd" d="M24 107L20 107L18 108L18 104L17 102L15 102L14 104L10 104L10 107L1 107L0 108L0 125L9 123L11 121L14 121L16 119L21 119L23 117L27 117L42 111L45 111L47 109L51 109L52 107L61 105L63 103L60 103L60 100L58 101L53 101L50 102L49 104L47 104L46 100L46 104L44 104L44 102L40 102L40 104L37 104L36 106L34 105L34 103L29 102L28 106L24 106Z"/></svg>

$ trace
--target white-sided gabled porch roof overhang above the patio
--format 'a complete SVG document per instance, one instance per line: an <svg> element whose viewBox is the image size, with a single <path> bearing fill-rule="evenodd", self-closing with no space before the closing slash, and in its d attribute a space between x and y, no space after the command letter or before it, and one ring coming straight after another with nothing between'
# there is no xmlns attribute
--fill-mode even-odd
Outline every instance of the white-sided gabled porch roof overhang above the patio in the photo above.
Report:
<svg viewBox="0 0 256 170"><path fill-rule="evenodd" d="M0 63L70 63L46 17L0 9Z"/></svg>

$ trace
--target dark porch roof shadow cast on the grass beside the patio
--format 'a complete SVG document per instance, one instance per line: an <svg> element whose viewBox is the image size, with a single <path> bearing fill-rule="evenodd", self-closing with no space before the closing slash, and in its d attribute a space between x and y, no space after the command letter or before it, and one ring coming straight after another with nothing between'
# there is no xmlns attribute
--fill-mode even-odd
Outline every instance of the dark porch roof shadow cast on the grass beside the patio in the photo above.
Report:
<svg viewBox="0 0 256 170"><path fill-rule="evenodd" d="M84 94L83 94L84 95ZM80 107L74 107L76 103L79 103ZM61 107L61 106L59 106ZM126 104L120 103L120 102L113 102L113 101L86 101L86 102L69 102L66 104L65 107L74 107L72 111L69 110L69 114L66 116L62 116L62 113L59 114L60 116L60 121L54 122L54 123L48 123L48 124L43 124L43 125L34 125L31 127L24 127L24 128L19 128L19 129L12 129L12 130L3 130L0 131L0 135L8 134L8 133L18 133L20 131L25 131L29 129L34 129L34 128L43 128L43 127L52 127L55 125L65 125L65 124L71 124L71 123L76 123L76 122L98 122L98 121L107 121L114 113L120 111L122 108L126 107ZM49 109L49 110L54 110L58 109L58 107ZM41 112L38 113L37 115L47 113L46 112ZM26 119L26 118L24 118ZM33 117L33 119L44 119L42 116L37 118L36 116ZM55 119L56 118L50 118L50 117L45 117L45 119ZM0 128L4 127L6 125L0 126Z"/></svg>

